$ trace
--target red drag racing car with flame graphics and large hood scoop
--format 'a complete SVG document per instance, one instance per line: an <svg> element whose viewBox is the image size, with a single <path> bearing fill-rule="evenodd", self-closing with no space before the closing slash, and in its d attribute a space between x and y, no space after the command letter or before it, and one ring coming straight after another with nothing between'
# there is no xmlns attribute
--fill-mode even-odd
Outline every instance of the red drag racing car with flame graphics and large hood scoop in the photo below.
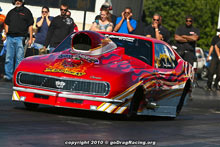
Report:
<svg viewBox="0 0 220 147"><path fill-rule="evenodd" d="M176 117L192 80L192 66L163 41L81 31L51 54L25 58L14 73L12 99L29 109Z"/></svg>

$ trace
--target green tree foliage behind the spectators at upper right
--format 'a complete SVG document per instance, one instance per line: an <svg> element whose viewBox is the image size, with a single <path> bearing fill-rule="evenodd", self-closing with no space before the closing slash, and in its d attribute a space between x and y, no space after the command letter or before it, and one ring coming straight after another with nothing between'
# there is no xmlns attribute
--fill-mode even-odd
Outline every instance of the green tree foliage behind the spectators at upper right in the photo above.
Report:
<svg viewBox="0 0 220 147"><path fill-rule="evenodd" d="M219 0L145 0L146 23L151 24L154 13L163 18L163 25L171 32L171 41L178 26L185 24L185 16L193 15L193 25L200 30L197 46L208 50L216 35Z"/></svg>

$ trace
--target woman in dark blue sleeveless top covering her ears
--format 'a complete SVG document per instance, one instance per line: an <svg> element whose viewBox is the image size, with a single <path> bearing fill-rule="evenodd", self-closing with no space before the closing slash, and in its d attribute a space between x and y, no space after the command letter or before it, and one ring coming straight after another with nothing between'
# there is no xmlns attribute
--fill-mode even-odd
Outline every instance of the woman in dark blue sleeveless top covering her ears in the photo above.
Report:
<svg viewBox="0 0 220 147"><path fill-rule="evenodd" d="M37 18L36 26L37 26L37 33L35 34L35 41L33 44L33 48L41 49L44 46L47 31L50 26L53 17L50 16L50 11L47 6L42 7L41 17Z"/></svg>

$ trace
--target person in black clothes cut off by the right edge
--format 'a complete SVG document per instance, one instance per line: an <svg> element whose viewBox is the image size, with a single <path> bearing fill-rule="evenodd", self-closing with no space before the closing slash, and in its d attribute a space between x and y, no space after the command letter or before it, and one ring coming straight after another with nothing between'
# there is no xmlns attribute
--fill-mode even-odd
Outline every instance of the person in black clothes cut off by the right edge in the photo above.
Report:
<svg viewBox="0 0 220 147"><path fill-rule="evenodd" d="M220 32L220 28L217 29L218 32ZM211 47L209 48L209 54L207 56L207 61L211 59L210 66L208 69L208 81L206 85L206 90L219 90L218 82L220 77L220 54L219 54L219 48L220 48L220 34L216 35L212 38ZM213 81L213 75L217 74L217 77L215 78L214 86L212 87L212 81Z"/></svg>

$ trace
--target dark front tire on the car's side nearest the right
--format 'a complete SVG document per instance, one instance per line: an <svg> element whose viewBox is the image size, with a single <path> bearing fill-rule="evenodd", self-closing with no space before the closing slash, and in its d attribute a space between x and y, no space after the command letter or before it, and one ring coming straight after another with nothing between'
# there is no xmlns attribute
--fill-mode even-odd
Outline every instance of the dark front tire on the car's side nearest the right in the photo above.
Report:
<svg viewBox="0 0 220 147"><path fill-rule="evenodd" d="M144 89L142 86L140 86L135 91L135 94L131 100L129 111L127 114L128 118L131 118L131 117L134 117L137 115L137 111L138 111L140 102L143 98L144 98Z"/></svg>

